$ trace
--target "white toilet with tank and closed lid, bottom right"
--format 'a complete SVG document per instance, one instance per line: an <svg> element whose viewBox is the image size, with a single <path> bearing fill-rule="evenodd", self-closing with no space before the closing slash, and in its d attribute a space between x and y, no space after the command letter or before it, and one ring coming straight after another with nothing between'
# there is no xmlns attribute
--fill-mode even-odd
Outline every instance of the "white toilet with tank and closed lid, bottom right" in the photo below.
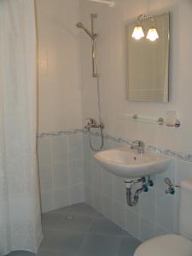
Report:
<svg viewBox="0 0 192 256"><path fill-rule="evenodd" d="M134 256L192 256L192 178L181 183L179 233L143 242Z"/></svg>

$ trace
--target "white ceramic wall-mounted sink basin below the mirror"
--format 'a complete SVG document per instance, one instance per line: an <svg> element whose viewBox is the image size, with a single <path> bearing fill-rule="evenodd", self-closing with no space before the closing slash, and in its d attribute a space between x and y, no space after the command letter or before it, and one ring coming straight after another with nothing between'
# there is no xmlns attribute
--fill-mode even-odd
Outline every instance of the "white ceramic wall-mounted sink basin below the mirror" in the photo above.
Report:
<svg viewBox="0 0 192 256"><path fill-rule="evenodd" d="M137 149L129 147L104 150L95 154L95 159L108 172L119 177L144 177L165 172L171 159L163 154L152 153L148 150L138 154Z"/></svg>

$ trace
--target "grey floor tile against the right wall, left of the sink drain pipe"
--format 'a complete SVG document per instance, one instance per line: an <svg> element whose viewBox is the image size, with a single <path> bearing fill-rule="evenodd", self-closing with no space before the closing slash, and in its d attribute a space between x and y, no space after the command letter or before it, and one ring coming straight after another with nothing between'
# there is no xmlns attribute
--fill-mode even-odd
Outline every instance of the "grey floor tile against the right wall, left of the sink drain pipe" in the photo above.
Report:
<svg viewBox="0 0 192 256"><path fill-rule="evenodd" d="M96 218L90 226L90 232L95 234L120 236L122 229L118 225L113 224L108 218Z"/></svg>

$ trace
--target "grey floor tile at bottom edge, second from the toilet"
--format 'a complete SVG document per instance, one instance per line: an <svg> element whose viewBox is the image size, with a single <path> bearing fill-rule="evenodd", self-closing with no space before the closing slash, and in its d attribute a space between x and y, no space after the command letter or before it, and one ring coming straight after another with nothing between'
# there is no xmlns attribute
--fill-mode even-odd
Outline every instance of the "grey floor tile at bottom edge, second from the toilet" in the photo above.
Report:
<svg viewBox="0 0 192 256"><path fill-rule="evenodd" d="M79 250L84 256L116 256L119 250L119 237L86 235Z"/></svg>

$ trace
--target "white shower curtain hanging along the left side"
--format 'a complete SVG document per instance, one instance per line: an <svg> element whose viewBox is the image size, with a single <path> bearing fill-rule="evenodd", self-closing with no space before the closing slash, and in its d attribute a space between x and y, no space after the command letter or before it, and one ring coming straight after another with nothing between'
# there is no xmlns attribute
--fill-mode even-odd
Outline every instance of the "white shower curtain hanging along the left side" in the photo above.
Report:
<svg viewBox="0 0 192 256"><path fill-rule="evenodd" d="M0 0L0 255L42 240L33 0Z"/></svg>

